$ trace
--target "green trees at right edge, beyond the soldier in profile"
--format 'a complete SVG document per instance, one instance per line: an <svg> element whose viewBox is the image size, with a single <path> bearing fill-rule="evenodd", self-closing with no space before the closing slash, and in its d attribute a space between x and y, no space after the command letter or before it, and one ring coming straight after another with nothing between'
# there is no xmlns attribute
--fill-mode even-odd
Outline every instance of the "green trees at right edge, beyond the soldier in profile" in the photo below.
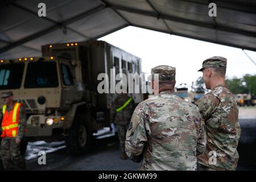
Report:
<svg viewBox="0 0 256 182"><path fill-rule="evenodd" d="M256 96L256 75L246 74L242 78L226 79L226 84L232 93L254 93Z"/></svg>

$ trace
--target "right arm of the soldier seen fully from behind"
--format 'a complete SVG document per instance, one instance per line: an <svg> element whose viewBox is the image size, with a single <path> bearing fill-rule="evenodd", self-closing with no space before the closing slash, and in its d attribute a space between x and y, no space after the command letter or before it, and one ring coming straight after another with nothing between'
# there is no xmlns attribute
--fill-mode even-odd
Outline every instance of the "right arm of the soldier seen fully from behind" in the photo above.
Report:
<svg viewBox="0 0 256 182"><path fill-rule="evenodd" d="M207 145L207 135L205 132L203 119L200 118L200 127L199 127L197 146L196 146L196 156L204 153L206 149L206 145Z"/></svg>

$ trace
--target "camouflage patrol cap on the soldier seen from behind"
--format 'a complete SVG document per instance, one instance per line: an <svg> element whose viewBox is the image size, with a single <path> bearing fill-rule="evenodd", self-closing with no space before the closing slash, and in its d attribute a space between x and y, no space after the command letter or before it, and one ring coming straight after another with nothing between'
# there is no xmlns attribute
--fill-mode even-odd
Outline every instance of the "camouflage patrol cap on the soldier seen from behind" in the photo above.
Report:
<svg viewBox="0 0 256 182"><path fill-rule="evenodd" d="M155 68L151 69L152 79L154 78L154 74L158 73L159 80L167 81L167 80L175 80L176 68L168 66L168 65L159 65Z"/></svg>

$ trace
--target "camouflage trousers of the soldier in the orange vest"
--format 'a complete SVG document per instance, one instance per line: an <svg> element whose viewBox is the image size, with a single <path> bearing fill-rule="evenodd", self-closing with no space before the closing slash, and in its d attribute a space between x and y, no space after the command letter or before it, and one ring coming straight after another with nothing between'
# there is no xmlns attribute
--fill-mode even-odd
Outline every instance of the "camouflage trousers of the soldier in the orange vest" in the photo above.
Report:
<svg viewBox="0 0 256 182"><path fill-rule="evenodd" d="M20 144L16 144L15 138L2 138L1 157L5 169L14 169L14 164L21 169L26 169L26 162L20 154Z"/></svg>

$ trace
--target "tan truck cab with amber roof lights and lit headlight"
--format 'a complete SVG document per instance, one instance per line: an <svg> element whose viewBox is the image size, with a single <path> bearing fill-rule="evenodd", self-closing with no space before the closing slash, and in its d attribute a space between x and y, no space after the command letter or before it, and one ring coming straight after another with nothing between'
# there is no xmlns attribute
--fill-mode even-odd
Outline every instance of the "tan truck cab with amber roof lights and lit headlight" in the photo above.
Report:
<svg viewBox="0 0 256 182"><path fill-rule="evenodd" d="M28 139L47 139L63 133L69 120L65 111L82 98L82 90L77 89L72 73L76 61L72 64L53 56L20 57L0 64L0 92L11 90L15 102L24 105Z"/></svg>

